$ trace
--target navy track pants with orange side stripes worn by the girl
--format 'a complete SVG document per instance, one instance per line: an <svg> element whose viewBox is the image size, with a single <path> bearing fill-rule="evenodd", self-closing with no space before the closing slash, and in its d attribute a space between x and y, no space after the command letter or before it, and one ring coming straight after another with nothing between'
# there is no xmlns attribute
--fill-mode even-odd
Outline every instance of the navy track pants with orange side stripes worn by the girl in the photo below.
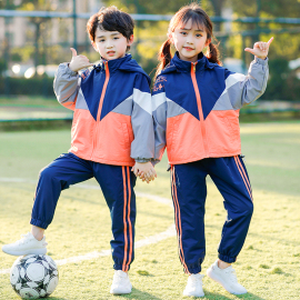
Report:
<svg viewBox="0 0 300 300"><path fill-rule="evenodd" d="M187 273L200 272L206 256L204 206L208 174L221 192L228 212L218 249L219 259L228 263L236 261L253 212L252 190L240 156L171 166L179 257Z"/></svg>

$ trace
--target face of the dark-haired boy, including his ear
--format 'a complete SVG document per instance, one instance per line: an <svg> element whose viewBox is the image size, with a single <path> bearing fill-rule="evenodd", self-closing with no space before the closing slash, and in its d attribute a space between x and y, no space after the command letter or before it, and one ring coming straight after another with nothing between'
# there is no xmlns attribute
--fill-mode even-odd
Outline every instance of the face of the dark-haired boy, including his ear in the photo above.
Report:
<svg viewBox="0 0 300 300"><path fill-rule="evenodd" d="M129 40L119 31L106 31L97 28L92 46L106 60L122 58L128 46L133 42L133 34Z"/></svg>

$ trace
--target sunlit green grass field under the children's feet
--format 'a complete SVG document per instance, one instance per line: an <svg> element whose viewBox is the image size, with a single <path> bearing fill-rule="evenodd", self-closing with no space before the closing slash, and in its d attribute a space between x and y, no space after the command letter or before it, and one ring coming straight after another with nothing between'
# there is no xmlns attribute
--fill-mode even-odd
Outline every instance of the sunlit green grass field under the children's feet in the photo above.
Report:
<svg viewBox="0 0 300 300"><path fill-rule="evenodd" d="M242 151L252 183L254 214L244 247L234 263L244 296L232 296L208 277L202 299L300 299L300 122L241 126ZM19 239L29 227L39 170L69 149L70 131L0 132L0 247ZM170 199L167 159L157 166L156 182L138 182L137 191ZM18 182L18 180L20 181ZM91 188L87 188L86 186ZM49 254L54 260L109 250L109 210L94 180L63 191L52 224L47 230ZM206 269L216 260L226 218L222 198L208 180ZM136 241L166 231L173 223L169 203L138 197ZM0 252L0 271L14 257ZM137 249L129 272L132 293L109 293L113 276L110 256L59 267L60 282L52 300L153 299L182 297L187 276L177 253L174 236ZM0 272L0 299L19 297L9 274Z"/></svg>

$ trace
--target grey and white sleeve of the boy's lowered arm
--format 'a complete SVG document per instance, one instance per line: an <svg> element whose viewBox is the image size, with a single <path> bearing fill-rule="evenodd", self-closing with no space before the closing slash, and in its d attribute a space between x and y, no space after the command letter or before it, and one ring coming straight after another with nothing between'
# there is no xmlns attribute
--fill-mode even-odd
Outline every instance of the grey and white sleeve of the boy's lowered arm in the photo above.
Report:
<svg viewBox="0 0 300 300"><path fill-rule="evenodd" d="M143 80L147 79L144 78L142 81ZM134 139L131 143L130 157L137 162L148 162L152 160L154 156L151 93L148 82L148 90L144 88L146 82L142 84L143 91L139 88L133 89L131 124Z"/></svg>

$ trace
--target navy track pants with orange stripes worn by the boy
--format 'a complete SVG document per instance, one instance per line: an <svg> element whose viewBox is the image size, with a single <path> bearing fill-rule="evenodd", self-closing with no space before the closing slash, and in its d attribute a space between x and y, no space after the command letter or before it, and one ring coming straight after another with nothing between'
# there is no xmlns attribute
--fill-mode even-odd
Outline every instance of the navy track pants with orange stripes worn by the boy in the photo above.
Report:
<svg viewBox="0 0 300 300"><path fill-rule="evenodd" d="M94 177L110 209L113 268L128 271L134 259L137 179L130 169L83 160L73 153L61 154L40 172L30 223L47 229L61 191Z"/></svg>

